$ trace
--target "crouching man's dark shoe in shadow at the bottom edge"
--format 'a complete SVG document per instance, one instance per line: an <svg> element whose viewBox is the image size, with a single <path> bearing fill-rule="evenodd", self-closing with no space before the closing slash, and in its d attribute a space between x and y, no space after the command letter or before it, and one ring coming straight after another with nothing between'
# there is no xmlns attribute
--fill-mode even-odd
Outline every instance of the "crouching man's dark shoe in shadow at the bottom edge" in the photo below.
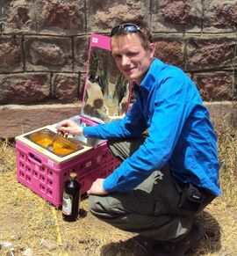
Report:
<svg viewBox="0 0 237 256"><path fill-rule="evenodd" d="M153 248L153 256L183 256L190 248L196 246L205 236L205 229L197 223L183 239L176 242L163 242Z"/></svg>

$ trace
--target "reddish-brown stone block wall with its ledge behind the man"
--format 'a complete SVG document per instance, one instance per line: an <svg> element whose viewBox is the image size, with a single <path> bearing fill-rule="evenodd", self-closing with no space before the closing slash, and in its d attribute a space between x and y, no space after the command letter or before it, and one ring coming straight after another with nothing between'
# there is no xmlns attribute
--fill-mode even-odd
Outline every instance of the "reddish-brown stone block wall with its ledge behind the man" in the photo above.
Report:
<svg viewBox="0 0 237 256"><path fill-rule="evenodd" d="M90 33L151 26L155 55L184 69L214 121L237 124L236 0L0 0L0 137L80 113Z"/></svg>

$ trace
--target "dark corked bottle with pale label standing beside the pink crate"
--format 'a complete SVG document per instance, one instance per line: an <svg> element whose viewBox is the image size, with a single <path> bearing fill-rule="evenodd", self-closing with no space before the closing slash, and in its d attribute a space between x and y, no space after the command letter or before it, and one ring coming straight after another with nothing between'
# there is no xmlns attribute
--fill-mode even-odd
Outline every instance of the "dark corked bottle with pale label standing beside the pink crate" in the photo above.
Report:
<svg viewBox="0 0 237 256"><path fill-rule="evenodd" d="M78 218L81 187L76 181L76 173L70 173L70 179L65 183L62 201L62 217L67 222L75 222Z"/></svg>

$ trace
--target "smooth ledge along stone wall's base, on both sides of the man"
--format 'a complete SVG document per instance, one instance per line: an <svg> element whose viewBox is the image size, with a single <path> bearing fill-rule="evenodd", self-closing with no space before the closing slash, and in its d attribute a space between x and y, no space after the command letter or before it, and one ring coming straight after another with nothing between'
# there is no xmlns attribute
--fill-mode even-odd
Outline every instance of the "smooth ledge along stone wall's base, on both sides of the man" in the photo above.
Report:
<svg viewBox="0 0 237 256"><path fill-rule="evenodd" d="M205 102L214 126L226 121L237 127L237 102ZM0 106L0 137L12 138L36 128L67 119L81 113L81 104L39 106Z"/></svg>

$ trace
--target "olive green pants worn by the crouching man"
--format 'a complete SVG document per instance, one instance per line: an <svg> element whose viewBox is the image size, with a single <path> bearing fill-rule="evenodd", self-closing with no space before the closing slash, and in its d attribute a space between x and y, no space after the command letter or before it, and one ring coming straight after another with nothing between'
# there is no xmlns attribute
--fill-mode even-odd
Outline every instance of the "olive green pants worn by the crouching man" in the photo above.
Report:
<svg viewBox="0 0 237 256"><path fill-rule="evenodd" d="M144 142L143 137L108 143L122 161ZM183 238L192 227L190 213L178 207L181 188L168 168L153 172L138 187L125 193L90 195L90 212L120 230L139 233L155 240Z"/></svg>

